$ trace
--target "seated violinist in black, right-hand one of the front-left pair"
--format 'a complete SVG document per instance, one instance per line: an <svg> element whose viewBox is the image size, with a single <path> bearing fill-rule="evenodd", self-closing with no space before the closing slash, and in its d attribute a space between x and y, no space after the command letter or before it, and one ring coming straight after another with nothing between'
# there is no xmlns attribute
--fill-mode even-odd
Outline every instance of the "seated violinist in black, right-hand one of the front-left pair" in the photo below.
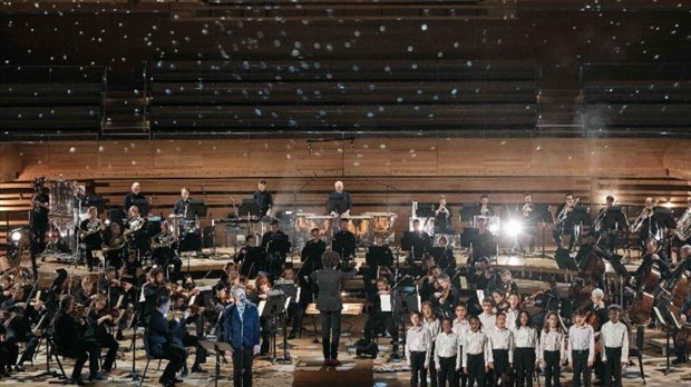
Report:
<svg viewBox="0 0 691 387"><path fill-rule="evenodd" d="M117 319L120 317L119 311L108 307L108 299L104 295L95 296L88 305L90 310L86 317L87 330L85 338L97 341L101 348L108 348L106 359L100 367L101 371L108 374L113 369L115 356L119 347L115 337L108 331L108 327L113 327L117 322Z"/></svg>

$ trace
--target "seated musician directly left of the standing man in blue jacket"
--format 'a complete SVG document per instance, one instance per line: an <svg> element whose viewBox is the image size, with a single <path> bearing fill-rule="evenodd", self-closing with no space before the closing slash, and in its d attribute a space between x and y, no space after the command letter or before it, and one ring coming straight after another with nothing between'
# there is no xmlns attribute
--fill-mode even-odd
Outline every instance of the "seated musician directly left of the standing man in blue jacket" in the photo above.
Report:
<svg viewBox="0 0 691 387"><path fill-rule="evenodd" d="M206 363L206 349L199 345L199 337L191 335L187 330L187 325L197 324L202 319L204 309L193 305L188 306L187 298L181 292L174 292L171 295L171 311L182 311L182 317L174 316L171 321L171 336L173 343L181 347L195 347L194 364L189 369L192 373L205 374L206 370L202 368L202 364ZM185 349L185 358L183 359L182 376L187 376L187 349Z"/></svg>

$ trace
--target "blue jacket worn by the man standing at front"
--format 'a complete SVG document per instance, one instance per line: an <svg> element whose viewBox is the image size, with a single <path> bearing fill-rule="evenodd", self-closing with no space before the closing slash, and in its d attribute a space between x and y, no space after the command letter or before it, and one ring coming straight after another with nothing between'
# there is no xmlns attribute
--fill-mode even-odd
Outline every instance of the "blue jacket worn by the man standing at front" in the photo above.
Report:
<svg viewBox="0 0 691 387"><path fill-rule="evenodd" d="M235 304L228 305L223 310L223 343L230 343L234 350L242 348L251 349L259 345L261 325L256 305L245 302L243 319L240 319Z"/></svg>

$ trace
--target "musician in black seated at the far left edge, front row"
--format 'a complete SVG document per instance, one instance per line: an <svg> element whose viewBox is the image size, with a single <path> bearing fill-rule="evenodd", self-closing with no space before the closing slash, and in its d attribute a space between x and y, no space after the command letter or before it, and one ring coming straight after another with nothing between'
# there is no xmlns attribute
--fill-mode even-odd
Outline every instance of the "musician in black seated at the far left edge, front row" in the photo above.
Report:
<svg viewBox="0 0 691 387"><path fill-rule="evenodd" d="M26 343L25 351L16 366L16 369L19 371L25 370L25 361L33 358L36 348L39 345L39 339L31 331L31 327L40 319L39 310L42 307L41 304L39 300L31 305L30 300L25 297L25 288L17 284L11 289L10 298L0 305L0 310L7 312L10 317L13 316L4 320L4 327L7 328L6 338L9 346Z"/></svg>

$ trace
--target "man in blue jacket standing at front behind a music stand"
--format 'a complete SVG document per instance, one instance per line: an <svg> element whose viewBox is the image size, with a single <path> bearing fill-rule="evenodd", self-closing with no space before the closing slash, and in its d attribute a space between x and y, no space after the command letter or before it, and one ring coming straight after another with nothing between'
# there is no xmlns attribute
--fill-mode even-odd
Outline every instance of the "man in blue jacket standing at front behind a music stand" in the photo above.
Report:
<svg viewBox="0 0 691 387"><path fill-rule="evenodd" d="M245 288L231 288L233 304L223 311L223 343L233 347L233 386L252 387L252 360L260 351L260 319L256 305L247 301Z"/></svg>

